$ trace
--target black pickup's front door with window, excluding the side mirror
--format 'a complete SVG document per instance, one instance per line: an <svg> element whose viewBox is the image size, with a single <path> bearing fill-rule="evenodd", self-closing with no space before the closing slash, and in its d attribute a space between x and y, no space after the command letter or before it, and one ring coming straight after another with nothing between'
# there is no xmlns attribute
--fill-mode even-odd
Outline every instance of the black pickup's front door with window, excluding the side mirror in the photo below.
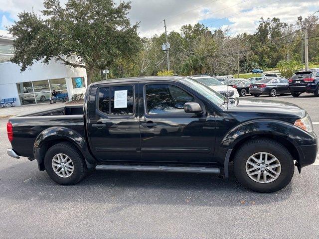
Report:
<svg viewBox="0 0 319 239"><path fill-rule="evenodd" d="M141 155L144 161L209 162L215 144L215 118L183 85L140 82ZM203 115L184 112L197 102Z"/></svg>

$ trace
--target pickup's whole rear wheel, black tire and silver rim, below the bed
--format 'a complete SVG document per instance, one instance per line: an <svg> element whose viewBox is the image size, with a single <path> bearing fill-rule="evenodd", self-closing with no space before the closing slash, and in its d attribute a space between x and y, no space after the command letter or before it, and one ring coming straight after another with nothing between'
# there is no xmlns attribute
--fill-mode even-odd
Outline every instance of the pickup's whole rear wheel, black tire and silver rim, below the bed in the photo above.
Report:
<svg viewBox="0 0 319 239"><path fill-rule="evenodd" d="M45 154L44 165L50 178L62 185L78 183L87 171L82 155L68 142L50 147Z"/></svg>

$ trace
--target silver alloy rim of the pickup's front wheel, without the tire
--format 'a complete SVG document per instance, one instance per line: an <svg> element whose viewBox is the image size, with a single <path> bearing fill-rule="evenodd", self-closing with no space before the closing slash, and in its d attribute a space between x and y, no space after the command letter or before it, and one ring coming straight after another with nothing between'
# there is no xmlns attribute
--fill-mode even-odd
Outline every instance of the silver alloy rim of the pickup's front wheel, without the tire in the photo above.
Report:
<svg viewBox="0 0 319 239"><path fill-rule="evenodd" d="M246 173L255 182L270 183L279 177L281 164L274 155L267 152L258 152L248 158Z"/></svg>

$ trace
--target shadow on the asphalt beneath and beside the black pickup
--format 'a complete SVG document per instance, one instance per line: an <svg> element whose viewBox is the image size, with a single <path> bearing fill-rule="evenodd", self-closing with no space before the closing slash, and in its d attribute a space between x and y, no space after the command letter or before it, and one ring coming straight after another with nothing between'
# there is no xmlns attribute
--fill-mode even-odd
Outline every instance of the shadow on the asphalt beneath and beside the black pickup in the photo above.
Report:
<svg viewBox="0 0 319 239"><path fill-rule="evenodd" d="M36 162L32 164L36 166ZM37 203L44 200L61 203L224 207L284 201L292 192L292 183L279 192L265 194L245 189L234 176L220 179L210 174L94 171L76 185L61 186L54 183L45 171L14 172L30 166L30 162L25 162L10 170L0 171L1 197Z"/></svg>

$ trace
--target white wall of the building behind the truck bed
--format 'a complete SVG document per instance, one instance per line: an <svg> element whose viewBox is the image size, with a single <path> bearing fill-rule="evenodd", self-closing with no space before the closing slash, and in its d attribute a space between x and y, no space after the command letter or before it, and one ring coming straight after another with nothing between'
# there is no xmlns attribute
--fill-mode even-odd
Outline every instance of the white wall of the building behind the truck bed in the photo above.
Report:
<svg viewBox="0 0 319 239"><path fill-rule="evenodd" d="M52 60L48 65L35 62L24 72L20 72L20 67L17 64L0 63L0 99L15 97L17 99L15 105L20 105L16 83L65 78L71 100L73 94L85 93L86 90L86 88L73 89L72 77L84 77L85 86L87 86L84 68L73 68Z"/></svg>

